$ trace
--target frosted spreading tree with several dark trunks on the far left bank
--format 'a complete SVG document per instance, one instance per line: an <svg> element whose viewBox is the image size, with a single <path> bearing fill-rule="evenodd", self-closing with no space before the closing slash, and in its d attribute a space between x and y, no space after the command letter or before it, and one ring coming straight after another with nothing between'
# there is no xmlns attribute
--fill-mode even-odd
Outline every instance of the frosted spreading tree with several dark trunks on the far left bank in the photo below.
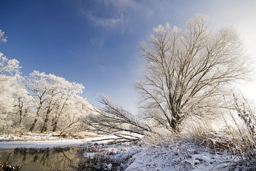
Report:
<svg viewBox="0 0 256 171"><path fill-rule="evenodd" d="M54 74L34 71L26 77L26 88L33 97L35 117L29 131L33 132L38 121L41 132L49 130L49 123L53 121L53 131L56 130L58 121L65 111L68 100L79 96L84 86L71 83Z"/></svg>

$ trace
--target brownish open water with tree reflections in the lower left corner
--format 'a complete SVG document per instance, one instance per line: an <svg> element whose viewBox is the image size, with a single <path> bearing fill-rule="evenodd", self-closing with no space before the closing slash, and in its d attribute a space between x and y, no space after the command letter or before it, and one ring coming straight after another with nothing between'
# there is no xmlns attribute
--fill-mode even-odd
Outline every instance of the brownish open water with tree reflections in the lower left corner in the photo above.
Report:
<svg viewBox="0 0 256 171"><path fill-rule="evenodd" d="M15 150L0 150L0 161L6 165L19 165L23 170L76 170L83 158L77 148L64 152L21 153Z"/></svg>

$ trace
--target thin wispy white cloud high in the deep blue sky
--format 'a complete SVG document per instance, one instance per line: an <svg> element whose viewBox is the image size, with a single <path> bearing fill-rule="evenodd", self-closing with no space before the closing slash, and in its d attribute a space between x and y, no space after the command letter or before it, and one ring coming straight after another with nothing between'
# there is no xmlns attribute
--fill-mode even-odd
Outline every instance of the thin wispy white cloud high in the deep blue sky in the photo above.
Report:
<svg viewBox="0 0 256 171"><path fill-rule="evenodd" d="M96 1L91 8L80 6L80 13L95 26L106 28L110 31L118 31L124 34L133 28L134 23L142 20L149 21L154 15L154 10L145 3L134 0L106 0Z"/></svg>

